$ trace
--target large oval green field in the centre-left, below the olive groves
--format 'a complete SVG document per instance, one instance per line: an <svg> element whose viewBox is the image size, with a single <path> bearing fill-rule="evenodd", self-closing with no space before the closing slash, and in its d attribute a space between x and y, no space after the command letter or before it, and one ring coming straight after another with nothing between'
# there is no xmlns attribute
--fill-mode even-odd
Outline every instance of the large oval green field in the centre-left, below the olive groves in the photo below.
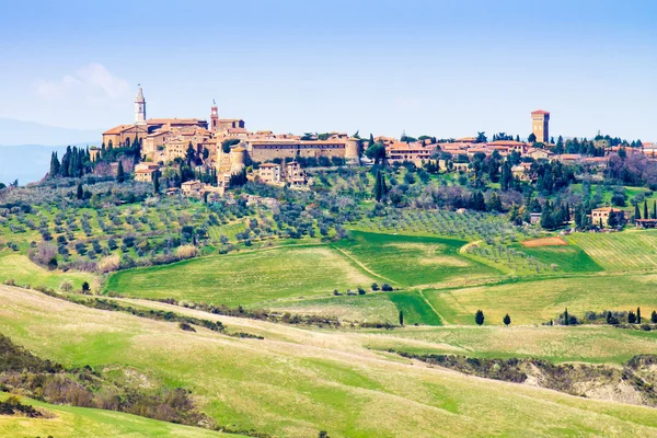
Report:
<svg viewBox="0 0 657 438"><path fill-rule="evenodd" d="M355 290L372 281L327 247L299 246L129 269L114 274L106 289L130 297L247 306L330 295L333 289Z"/></svg>

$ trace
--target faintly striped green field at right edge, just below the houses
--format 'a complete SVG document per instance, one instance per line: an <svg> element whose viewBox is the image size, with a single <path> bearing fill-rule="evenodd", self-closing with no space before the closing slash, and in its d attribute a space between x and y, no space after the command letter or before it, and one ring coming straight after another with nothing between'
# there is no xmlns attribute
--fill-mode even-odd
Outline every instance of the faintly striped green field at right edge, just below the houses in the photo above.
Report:
<svg viewBox="0 0 657 438"><path fill-rule="evenodd" d="M566 240L586 251L606 270L657 268L657 230L575 233Z"/></svg>

